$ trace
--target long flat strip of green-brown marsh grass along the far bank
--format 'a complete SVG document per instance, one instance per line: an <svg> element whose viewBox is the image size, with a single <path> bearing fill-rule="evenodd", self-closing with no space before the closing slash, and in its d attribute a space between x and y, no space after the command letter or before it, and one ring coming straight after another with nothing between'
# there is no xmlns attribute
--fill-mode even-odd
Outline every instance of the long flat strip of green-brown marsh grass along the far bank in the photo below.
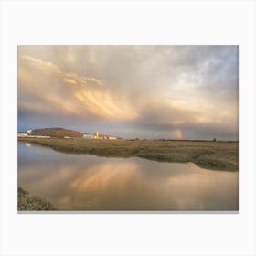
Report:
<svg viewBox="0 0 256 256"><path fill-rule="evenodd" d="M129 157L138 156L165 162L193 162L216 170L238 171L239 143L224 141L169 140L83 140L18 138L21 142L40 144L73 154Z"/></svg>

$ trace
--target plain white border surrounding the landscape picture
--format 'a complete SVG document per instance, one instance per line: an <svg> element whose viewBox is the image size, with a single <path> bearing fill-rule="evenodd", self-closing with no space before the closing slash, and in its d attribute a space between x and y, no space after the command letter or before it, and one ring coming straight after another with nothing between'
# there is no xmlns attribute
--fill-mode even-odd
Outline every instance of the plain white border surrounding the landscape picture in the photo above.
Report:
<svg viewBox="0 0 256 256"><path fill-rule="evenodd" d="M255 2L2 1L1 254L255 255ZM240 45L240 213L16 212L18 44Z"/></svg>

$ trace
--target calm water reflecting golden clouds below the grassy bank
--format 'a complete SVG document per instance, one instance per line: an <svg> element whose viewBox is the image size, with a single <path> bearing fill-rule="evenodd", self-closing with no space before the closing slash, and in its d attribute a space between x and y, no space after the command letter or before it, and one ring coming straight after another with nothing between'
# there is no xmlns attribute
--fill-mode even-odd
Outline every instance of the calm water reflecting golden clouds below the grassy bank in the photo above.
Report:
<svg viewBox="0 0 256 256"><path fill-rule="evenodd" d="M238 172L21 143L18 185L59 210L238 210Z"/></svg>

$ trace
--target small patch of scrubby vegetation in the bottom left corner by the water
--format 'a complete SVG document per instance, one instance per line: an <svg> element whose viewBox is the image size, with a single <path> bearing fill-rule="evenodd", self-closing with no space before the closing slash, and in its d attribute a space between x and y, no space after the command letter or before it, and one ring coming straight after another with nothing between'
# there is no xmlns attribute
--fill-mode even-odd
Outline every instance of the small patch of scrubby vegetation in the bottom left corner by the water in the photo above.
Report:
<svg viewBox="0 0 256 256"><path fill-rule="evenodd" d="M17 208L18 210L54 210L56 208L44 198L29 196L29 192L22 187L17 190Z"/></svg>

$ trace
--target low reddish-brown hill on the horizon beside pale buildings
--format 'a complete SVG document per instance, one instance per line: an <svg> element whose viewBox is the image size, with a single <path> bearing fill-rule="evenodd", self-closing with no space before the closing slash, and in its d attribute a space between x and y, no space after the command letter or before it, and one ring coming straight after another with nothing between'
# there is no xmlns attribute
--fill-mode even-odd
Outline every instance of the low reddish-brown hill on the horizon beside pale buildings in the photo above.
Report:
<svg viewBox="0 0 256 256"><path fill-rule="evenodd" d="M75 137L81 138L83 136L82 133L67 130L63 128L43 128L43 129L35 129L29 135L38 135L38 136L50 136L54 138L64 138L67 137Z"/></svg>

